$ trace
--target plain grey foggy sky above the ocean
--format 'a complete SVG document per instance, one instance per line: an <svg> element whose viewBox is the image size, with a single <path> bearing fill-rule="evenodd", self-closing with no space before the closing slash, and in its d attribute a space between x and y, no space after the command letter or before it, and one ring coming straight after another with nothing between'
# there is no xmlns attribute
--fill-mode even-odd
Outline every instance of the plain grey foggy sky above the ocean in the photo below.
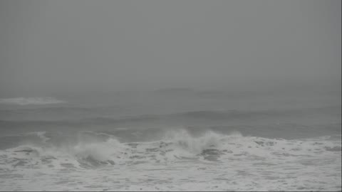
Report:
<svg viewBox="0 0 342 192"><path fill-rule="evenodd" d="M3 94L341 81L337 0L0 1L0 27Z"/></svg>

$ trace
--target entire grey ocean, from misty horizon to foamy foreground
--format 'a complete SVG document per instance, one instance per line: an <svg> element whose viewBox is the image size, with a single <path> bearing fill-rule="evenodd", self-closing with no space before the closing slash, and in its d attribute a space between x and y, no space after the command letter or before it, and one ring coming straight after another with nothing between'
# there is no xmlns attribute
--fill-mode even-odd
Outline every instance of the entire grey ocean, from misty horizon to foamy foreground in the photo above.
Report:
<svg viewBox="0 0 342 192"><path fill-rule="evenodd" d="M4 97L0 191L341 191L341 92Z"/></svg>

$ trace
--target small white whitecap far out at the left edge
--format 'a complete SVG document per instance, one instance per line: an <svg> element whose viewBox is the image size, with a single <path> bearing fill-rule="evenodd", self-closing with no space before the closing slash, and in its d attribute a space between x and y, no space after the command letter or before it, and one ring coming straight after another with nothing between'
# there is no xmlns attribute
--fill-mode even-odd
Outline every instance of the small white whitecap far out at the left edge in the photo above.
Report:
<svg viewBox="0 0 342 192"><path fill-rule="evenodd" d="M16 97L16 98L2 98L0 103L12 105L47 105L63 103L65 101L57 100L53 97Z"/></svg>

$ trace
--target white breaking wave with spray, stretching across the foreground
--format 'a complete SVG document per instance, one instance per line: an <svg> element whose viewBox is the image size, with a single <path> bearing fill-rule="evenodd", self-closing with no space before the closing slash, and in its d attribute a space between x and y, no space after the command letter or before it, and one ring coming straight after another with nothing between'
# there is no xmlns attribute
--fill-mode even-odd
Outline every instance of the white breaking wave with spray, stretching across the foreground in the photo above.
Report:
<svg viewBox="0 0 342 192"><path fill-rule="evenodd" d="M0 169L95 169L130 164L172 164L179 161L222 162L244 159L286 159L341 153L341 140L266 139L205 132L195 137L185 130L167 132L153 142L120 142L113 135L87 132L88 139L53 144L45 132L31 133L40 144L21 144L0 151ZM90 138L90 139L89 139Z"/></svg>

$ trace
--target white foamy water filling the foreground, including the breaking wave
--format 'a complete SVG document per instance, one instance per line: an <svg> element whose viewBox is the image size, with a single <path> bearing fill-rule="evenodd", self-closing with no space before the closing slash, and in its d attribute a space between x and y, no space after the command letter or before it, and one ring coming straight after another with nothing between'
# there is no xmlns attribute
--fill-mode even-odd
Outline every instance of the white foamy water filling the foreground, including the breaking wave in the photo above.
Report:
<svg viewBox="0 0 342 192"><path fill-rule="evenodd" d="M48 142L43 133L37 135ZM0 190L341 191L338 139L266 139L213 132L172 136L156 142L120 143L109 138L2 150Z"/></svg>

